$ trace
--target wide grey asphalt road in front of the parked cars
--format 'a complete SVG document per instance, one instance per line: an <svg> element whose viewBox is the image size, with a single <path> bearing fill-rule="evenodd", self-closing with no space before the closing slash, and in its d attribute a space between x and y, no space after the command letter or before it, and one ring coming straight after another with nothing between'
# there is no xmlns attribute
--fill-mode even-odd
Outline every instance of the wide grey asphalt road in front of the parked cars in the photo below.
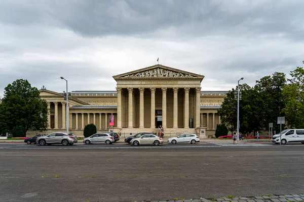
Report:
<svg viewBox="0 0 304 202"><path fill-rule="evenodd" d="M304 145L0 143L0 201L141 201L304 192Z"/></svg>

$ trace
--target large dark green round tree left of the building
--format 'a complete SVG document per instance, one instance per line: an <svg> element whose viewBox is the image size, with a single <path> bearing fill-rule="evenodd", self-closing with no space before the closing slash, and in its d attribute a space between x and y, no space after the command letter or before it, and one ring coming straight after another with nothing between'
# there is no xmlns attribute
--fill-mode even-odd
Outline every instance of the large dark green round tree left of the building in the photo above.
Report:
<svg viewBox="0 0 304 202"><path fill-rule="evenodd" d="M23 79L8 84L0 104L0 131L11 132L15 126L21 126L24 133L28 129L46 130L48 126L46 100Z"/></svg>

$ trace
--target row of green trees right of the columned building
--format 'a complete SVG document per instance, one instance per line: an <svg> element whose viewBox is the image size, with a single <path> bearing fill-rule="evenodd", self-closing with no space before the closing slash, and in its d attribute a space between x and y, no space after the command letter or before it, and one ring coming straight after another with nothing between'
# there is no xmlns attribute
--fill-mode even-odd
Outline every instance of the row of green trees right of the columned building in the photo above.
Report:
<svg viewBox="0 0 304 202"><path fill-rule="evenodd" d="M268 130L269 123L273 123L274 131L280 131L277 117L285 117L287 128L304 128L303 67L291 71L290 77L288 79L284 73L275 72L256 81L253 87L246 83L239 85L242 94L239 108L241 133L255 134L259 130ZM229 90L218 110L221 122L231 133L237 130L237 91L237 88Z"/></svg>

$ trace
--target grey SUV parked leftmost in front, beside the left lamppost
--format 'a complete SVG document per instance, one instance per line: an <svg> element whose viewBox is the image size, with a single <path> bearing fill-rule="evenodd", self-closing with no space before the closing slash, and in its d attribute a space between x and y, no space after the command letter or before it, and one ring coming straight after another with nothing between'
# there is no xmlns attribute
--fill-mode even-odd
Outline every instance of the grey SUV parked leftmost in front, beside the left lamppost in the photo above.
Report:
<svg viewBox="0 0 304 202"><path fill-rule="evenodd" d="M73 143L77 143L77 137L73 135L72 133L64 133L64 132L57 132L57 133L51 133L46 136L40 136L37 137L36 143L39 143L40 145L51 145L51 144L63 144L66 145L72 145Z"/></svg>

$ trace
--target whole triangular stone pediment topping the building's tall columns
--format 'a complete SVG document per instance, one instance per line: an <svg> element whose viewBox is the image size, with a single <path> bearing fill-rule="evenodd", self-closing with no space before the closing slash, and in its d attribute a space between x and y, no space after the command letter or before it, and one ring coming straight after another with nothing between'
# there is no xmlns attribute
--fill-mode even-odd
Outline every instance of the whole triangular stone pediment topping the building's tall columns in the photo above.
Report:
<svg viewBox="0 0 304 202"><path fill-rule="evenodd" d="M132 72L127 72L124 74L119 74L113 76L114 79L120 78L201 78L203 79L203 75L186 72L179 69L174 69L171 67L163 66L163 65L154 65L146 68L142 68L139 70L135 70Z"/></svg>

